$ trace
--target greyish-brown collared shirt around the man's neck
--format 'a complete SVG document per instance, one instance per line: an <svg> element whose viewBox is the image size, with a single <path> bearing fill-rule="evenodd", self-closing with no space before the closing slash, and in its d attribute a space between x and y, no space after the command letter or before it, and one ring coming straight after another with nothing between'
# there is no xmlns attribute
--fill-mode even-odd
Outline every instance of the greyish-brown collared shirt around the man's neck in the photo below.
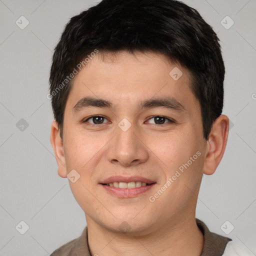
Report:
<svg viewBox="0 0 256 256"><path fill-rule="evenodd" d="M200 256L221 256L230 238L210 232L207 226L196 218L196 224L203 234L203 248ZM54 250L50 256L92 256L89 251L87 239L87 226L82 234L58 249Z"/></svg>

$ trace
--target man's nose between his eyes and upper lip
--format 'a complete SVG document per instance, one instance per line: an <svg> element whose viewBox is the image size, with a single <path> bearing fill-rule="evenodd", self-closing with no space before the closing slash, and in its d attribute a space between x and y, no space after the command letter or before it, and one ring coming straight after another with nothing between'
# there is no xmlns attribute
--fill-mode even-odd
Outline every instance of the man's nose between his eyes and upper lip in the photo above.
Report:
<svg viewBox="0 0 256 256"><path fill-rule="evenodd" d="M106 157L109 162L130 166L143 163L148 159L148 149L134 125L126 131L117 126L115 132L116 135L108 145Z"/></svg>

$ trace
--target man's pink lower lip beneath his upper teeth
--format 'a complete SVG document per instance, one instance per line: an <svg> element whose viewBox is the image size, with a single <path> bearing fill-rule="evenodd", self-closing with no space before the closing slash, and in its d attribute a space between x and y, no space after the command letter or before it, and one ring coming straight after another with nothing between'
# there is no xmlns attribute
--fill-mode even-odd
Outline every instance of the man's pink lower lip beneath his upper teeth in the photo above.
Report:
<svg viewBox="0 0 256 256"><path fill-rule="evenodd" d="M108 186L108 185L103 185L103 188L105 188L109 193L116 195L117 197L120 198L129 198L129 197L135 197L139 194L142 194L149 189L151 189L154 186L155 183L152 183L147 186L139 186L135 188L119 188L119 187L114 187L114 186Z"/></svg>

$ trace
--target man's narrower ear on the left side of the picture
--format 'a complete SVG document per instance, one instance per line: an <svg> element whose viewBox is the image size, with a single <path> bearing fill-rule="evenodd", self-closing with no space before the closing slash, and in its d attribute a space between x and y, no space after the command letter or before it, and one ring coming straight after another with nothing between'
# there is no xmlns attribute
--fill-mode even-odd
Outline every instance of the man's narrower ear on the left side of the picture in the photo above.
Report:
<svg viewBox="0 0 256 256"><path fill-rule="evenodd" d="M58 123L54 120L51 122L50 127L50 143L54 150L55 158L58 165L58 175L62 178L66 178L66 164L63 151L63 142L59 135Z"/></svg>

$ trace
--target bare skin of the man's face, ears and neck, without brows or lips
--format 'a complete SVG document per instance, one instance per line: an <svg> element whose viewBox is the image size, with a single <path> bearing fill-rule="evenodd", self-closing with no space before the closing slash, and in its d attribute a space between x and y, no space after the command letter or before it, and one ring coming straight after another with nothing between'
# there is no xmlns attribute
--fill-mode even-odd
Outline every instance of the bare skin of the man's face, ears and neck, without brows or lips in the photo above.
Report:
<svg viewBox="0 0 256 256"><path fill-rule="evenodd" d="M174 67L183 73L177 80L169 75ZM98 53L75 76L64 110L63 141L55 121L50 141L59 176L67 177L72 169L80 174L69 184L85 212L92 255L200 255L203 235L195 222L197 195L202 174L214 173L223 156L228 117L220 115L205 140L200 105L190 83L186 68L155 52ZM166 95L177 99L185 111L136 108L141 100ZM73 106L84 96L109 100L115 107L90 106L74 114ZM82 122L93 115L104 116L103 123ZM158 115L175 122L165 119L159 124L152 118ZM131 123L125 132L118 126L122 118ZM155 201L149 201L197 151L200 156ZM140 175L156 184L136 197L118 198L99 184L114 175ZM123 221L129 226L125 233L119 229Z"/></svg>

